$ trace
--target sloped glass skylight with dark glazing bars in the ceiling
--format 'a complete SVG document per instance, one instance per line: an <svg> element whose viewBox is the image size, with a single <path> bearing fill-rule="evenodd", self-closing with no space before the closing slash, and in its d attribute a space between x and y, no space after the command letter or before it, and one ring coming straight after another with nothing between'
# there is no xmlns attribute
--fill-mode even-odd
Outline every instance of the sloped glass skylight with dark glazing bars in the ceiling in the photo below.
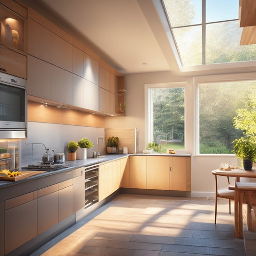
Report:
<svg viewBox="0 0 256 256"><path fill-rule="evenodd" d="M256 60L240 46L239 0L162 0L183 66Z"/></svg>

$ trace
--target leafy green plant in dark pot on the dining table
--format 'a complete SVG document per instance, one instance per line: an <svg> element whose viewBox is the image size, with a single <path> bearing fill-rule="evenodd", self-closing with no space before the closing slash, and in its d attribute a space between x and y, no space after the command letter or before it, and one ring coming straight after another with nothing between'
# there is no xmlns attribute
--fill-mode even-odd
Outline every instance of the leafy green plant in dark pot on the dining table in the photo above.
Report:
<svg viewBox="0 0 256 256"><path fill-rule="evenodd" d="M252 170L253 162L256 162L256 138L244 135L235 139L232 144L234 154L243 159L244 170Z"/></svg>

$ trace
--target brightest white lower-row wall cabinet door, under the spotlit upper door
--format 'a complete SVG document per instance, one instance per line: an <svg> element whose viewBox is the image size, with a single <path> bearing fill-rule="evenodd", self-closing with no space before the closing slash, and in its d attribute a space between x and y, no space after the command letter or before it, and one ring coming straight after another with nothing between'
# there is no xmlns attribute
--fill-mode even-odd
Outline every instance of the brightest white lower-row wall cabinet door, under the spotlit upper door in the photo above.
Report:
<svg viewBox="0 0 256 256"><path fill-rule="evenodd" d="M98 111L98 85L84 80L84 108Z"/></svg>

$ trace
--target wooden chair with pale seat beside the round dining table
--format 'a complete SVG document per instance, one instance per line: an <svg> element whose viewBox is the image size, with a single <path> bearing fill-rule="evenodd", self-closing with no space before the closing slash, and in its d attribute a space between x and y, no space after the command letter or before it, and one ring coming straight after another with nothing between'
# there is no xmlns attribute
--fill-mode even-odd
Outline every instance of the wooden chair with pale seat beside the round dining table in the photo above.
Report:
<svg viewBox="0 0 256 256"><path fill-rule="evenodd" d="M225 188L218 188L217 175L215 176L215 219L214 223L216 224L217 218L217 200L218 197L229 199L229 214L231 214L231 200L235 199L235 188L230 184L229 177L228 178L228 186Z"/></svg>

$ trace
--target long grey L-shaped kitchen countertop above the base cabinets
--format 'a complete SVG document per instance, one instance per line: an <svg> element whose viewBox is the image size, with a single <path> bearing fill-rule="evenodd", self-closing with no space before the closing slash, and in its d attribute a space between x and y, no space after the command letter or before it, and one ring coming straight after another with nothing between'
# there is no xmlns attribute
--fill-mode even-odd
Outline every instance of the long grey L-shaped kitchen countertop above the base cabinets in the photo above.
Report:
<svg viewBox="0 0 256 256"><path fill-rule="evenodd" d="M99 158L87 158L86 160L80 160L80 159L76 159L74 161L65 161L65 166L66 168L62 168L56 171L46 171L31 177L28 177L24 180L20 180L20 181L0 181L0 188L2 187L7 187L7 186L12 186L18 183L24 183L27 181L31 181L31 180L35 180L41 177L45 177L45 176L49 176L49 175L54 175L56 173L60 173L63 171L70 171L76 168L80 168L80 167L85 167L85 166L89 166L89 165L93 165L93 164L99 164L102 162L108 162L108 161L112 161L115 159L120 159L120 158L125 158L128 156L180 156L180 157L190 157L191 154L110 154L110 155L106 155L106 156L101 156ZM31 164L31 163L28 163ZM25 171L26 168L25 166L22 167L22 171Z"/></svg>

